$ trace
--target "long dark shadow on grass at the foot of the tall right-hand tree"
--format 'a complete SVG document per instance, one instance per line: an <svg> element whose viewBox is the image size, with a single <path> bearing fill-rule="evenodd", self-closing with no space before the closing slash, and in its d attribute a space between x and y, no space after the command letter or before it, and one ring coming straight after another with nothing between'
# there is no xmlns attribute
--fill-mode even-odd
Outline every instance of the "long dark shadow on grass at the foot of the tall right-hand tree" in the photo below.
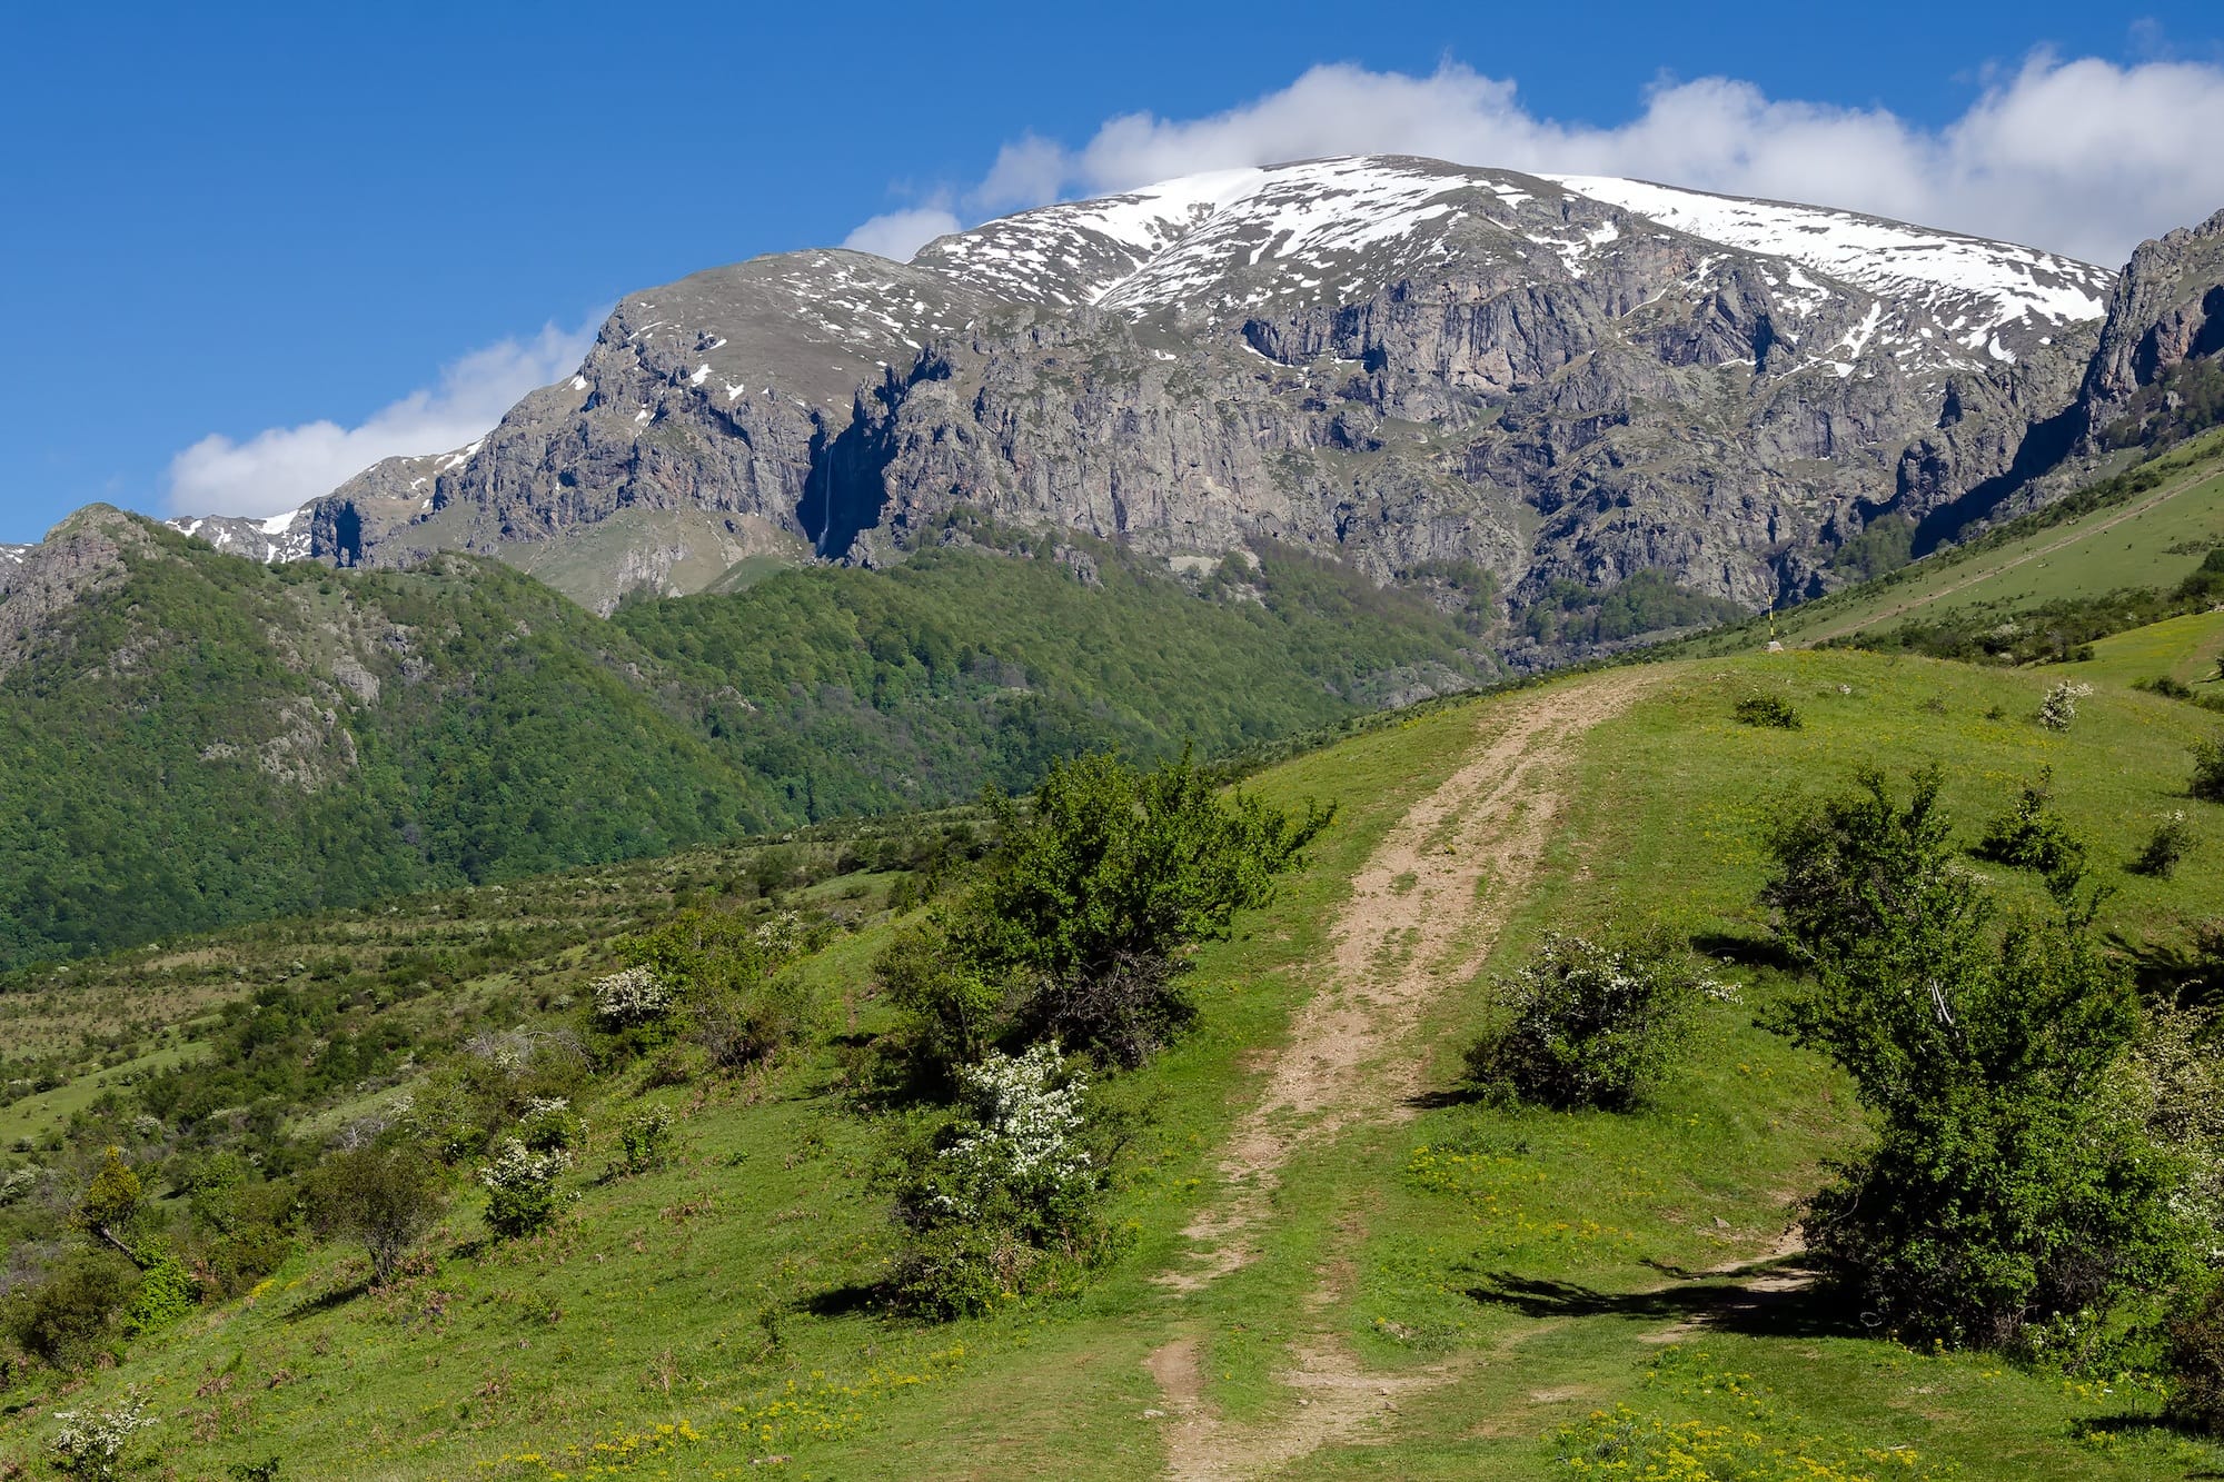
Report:
<svg viewBox="0 0 2224 1482"><path fill-rule="evenodd" d="M1764 1262L1732 1273L1675 1275L1652 1291L1599 1291L1495 1271L1468 1288L1472 1302L1510 1306L1526 1317L1628 1317L1686 1322L1748 1337L1870 1337L1859 1308L1813 1280L1797 1262Z"/></svg>

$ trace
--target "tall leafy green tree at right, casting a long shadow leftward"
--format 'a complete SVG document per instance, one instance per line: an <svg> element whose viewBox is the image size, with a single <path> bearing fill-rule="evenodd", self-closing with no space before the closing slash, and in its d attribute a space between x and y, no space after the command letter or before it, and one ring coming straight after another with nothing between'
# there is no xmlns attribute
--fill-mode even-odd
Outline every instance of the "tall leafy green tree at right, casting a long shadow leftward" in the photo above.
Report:
<svg viewBox="0 0 2224 1482"><path fill-rule="evenodd" d="M1875 1144L1808 1204L1808 1246L1902 1331L2008 1344L2166 1282L2173 1159L2113 1117L2139 1028L2084 921L2010 919L1962 872L1937 772L1882 774L1775 839L1764 899L1815 970L1773 1028L1828 1053Z"/></svg>

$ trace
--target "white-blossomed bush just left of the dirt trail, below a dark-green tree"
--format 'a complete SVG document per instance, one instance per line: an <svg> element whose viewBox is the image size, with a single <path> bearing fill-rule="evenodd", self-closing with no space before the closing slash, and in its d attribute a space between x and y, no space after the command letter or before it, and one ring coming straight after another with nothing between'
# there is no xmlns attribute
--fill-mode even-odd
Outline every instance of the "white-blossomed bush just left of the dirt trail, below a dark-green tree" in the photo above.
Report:
<svg viewBox="0 0 2224 1482"><path fill-rule="evenodd" d="M941 1150L947 1182L934 1195L945 1215L979 1219L999 1195L1021 1211L1052 1213L1096 1188L1096 1168L1079 1144L1088 1081L1063 1079L1056 1041L1025 1055L990 1050L959 1070L970 1113Z"/></svg>

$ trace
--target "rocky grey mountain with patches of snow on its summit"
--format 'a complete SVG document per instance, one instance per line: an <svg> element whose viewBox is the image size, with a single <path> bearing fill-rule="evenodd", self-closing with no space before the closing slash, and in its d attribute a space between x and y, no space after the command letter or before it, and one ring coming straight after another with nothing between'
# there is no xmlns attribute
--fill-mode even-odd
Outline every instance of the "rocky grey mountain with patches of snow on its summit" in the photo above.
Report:
<svg viewBox="0 0 2224 1482"><path fill-rule="evenodd" d="M594 581L560 585L607 610L738 559L887 563L974 510L1161 556L1272 539L1377 581L1472 563L1517 619L1637 574L1750 607L1833 585L1884 516L1968 514L2077 396L2111 289L1635 180L1219 171L910 263L801 251L627 296L429 505L342 490L311 545L572 547Z"/></svg>

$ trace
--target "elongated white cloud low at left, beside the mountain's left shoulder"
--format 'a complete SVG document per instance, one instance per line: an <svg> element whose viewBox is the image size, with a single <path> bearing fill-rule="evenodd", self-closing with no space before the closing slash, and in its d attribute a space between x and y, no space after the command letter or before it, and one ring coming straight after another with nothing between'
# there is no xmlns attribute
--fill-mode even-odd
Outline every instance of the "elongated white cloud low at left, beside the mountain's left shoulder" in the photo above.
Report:
<svg viewBox="0 0 2224 1482"><path fill-rule="evenodd" d="M278 514L331 494L380 458L463 447L527 392L574 369L594 343L596 314L578 329L545 325L529 340L500 340L440 367L434 387L380 407L356 427L316 421L267 427L245 441L220 432L169 461L173 514Z"/></svg>

